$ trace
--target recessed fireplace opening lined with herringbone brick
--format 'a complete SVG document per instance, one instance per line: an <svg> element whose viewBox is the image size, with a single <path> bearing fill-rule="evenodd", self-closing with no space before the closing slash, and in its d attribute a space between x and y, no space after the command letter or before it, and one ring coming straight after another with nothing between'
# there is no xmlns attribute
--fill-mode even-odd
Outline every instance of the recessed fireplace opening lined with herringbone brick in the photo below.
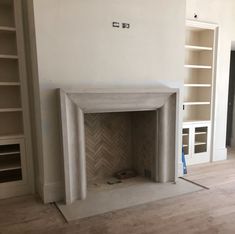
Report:
<svg viewBox="0 0 235 234"><path fill-rule="evenodd" d="M89 188L155 180L157 111L84 114Z"/></svg>

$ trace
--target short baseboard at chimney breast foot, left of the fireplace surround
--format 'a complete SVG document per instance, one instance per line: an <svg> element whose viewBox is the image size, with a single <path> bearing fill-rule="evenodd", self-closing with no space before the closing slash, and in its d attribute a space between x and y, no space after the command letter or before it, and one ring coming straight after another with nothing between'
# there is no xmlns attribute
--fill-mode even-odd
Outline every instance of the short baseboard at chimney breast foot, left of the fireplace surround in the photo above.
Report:
<svg viewBox="0 0 235 234"><path fill-rule="evenodd" d="M64 185L62 182L47 183L43 185L43 202L57 202L64 200Z"/></svg>

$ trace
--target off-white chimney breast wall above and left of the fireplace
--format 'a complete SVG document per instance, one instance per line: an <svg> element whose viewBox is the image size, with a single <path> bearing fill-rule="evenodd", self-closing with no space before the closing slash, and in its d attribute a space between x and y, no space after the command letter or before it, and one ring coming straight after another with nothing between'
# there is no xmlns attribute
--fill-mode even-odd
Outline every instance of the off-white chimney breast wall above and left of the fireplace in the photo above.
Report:
<svg viewBox="0 0 235 234"><path fill-rule="evenodd" d="M183 79L185 1L34 0L44 201L61 199L56 88L151 86ZM130 30L112 28L128 22Z"/></svg>

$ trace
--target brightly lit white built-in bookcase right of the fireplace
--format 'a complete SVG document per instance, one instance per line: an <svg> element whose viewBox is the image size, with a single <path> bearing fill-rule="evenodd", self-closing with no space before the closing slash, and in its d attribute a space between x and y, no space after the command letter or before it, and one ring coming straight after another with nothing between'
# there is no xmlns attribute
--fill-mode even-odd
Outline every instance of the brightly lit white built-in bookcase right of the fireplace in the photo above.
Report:
<svg viewBox="0 0 235 234"><path fill-rule="evenodd" d="M216 32L217 25L186 22L182 138L189 165L210 161Z"/></svg>

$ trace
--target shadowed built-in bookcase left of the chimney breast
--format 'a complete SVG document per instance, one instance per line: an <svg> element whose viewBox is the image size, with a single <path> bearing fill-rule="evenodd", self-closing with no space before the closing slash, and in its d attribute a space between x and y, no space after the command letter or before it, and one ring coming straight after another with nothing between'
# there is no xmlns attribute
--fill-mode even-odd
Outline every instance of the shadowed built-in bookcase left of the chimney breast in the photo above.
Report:
<svg viewBox="0 0 235 234"><path fill-rule="evenodd" d="M20 0L0 0L0 199L31 193L33 167Z"/></svg>

